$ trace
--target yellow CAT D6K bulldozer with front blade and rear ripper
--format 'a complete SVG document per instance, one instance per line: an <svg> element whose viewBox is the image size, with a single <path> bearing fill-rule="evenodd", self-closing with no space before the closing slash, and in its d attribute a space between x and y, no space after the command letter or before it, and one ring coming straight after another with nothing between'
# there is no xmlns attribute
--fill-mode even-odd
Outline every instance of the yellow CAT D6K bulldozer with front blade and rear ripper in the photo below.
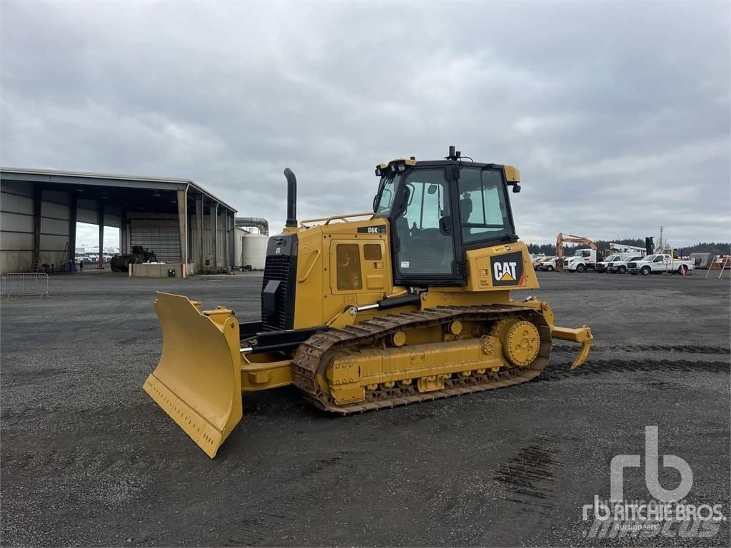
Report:
<svg viewBox="0 0 731 548"><path fill-rule="evenodd" d="M287 221L268 241L261 319L158 293L159 364L144 389L213 458L243 417L242 392L294 385L314 406L347 415L510 387L539 376L556 327L515 232L509 191L520 172L444 159L376 166L366 213L297 220L289 168Z"/></svg>

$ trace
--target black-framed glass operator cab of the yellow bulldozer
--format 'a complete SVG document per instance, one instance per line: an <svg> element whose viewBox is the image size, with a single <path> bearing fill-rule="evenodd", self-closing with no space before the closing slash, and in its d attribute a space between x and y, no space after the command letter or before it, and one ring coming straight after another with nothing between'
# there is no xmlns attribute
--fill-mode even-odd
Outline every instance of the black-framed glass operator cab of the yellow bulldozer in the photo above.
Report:
<svg viewBox="0 0 731 548"><path fill-rule="evenodd" d="M374 211L390 221L396 284L463 285L467 250L518 241L507 197L508 186L520 190L514 167L463 161L450 148L444 160L394 160L376 175Z"/></svg>

